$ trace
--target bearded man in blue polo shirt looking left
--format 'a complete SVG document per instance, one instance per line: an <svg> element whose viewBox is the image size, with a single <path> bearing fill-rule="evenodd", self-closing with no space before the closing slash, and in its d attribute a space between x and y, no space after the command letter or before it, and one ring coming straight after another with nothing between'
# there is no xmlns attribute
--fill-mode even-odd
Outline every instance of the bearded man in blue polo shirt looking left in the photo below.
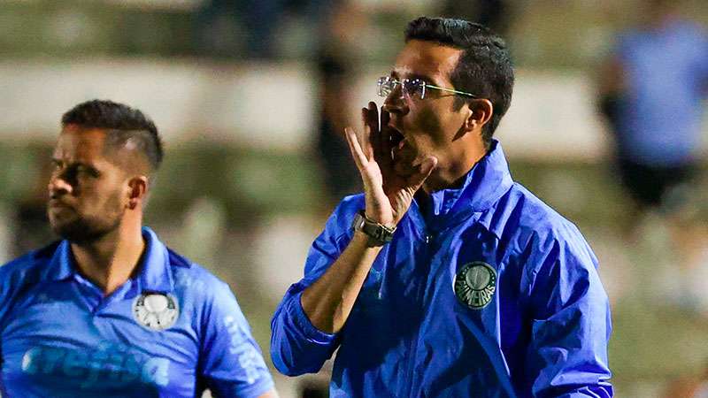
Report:
<svg viewBox="0 0 708 398"><path fill-rule="evenodd" d="M64 240L0 267L0 395L276 396L227 284L142 226L161 160L141 111L65 113L47 209Z"/></svg>

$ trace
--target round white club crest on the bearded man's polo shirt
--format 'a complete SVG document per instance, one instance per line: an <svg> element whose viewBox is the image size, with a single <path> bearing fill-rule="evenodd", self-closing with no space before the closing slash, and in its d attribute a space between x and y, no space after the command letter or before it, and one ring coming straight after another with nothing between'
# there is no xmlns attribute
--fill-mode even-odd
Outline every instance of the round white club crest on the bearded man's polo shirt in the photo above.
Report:
<svg viewBox="0 0 708 398"><path fill-rule="evenodd" d="M172 295L143 293L133 302L133 317L150 330L165 330L180 317L180 308Z"/></svg>

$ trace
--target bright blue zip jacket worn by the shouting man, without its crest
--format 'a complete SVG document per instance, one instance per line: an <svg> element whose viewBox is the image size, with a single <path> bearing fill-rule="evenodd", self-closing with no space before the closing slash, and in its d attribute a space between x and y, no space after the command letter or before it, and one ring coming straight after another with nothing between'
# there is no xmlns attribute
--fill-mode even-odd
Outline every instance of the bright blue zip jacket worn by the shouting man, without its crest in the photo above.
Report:
<svg viewBox="0 0 708 398"><path fill-rule="evenodd" d="M273 316L271 354L287 375L335 358L333 397L610 397L610 310L578 229L512 181L498 142L463 188L412 204L374 262L343 329L317 330L300 296L346 248L363 195L345 198L312 244L304 279ZM456 274L496 270L486 307L458 301Z"/></svg>

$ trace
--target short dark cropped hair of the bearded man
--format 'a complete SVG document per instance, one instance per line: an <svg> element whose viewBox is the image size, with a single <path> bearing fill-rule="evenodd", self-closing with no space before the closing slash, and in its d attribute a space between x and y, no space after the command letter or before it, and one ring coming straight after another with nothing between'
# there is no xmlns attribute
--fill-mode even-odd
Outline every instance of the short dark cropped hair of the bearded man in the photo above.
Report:
<svg viewBox="0 0 708 398"><path fill-rule="evenodd" d="M104 129L108 134L107 145L113 147L124 146L128 141L135 142L153 172L162 163L163 149L158 127L142 111L123 103L108 100L79 103L62 116L61 124Z"/></svg>

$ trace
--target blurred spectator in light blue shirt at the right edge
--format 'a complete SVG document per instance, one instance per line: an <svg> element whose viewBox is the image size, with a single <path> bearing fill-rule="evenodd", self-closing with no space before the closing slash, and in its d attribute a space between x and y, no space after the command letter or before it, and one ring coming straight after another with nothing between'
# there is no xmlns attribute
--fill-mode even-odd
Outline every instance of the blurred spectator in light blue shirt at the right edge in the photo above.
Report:
<svg viewBox="0 0 708 398"><path fill-rule="evenodd" d="M636 287L643 301L660 296L703 314L708 295L697 276L708 260L708 239L695 177L708 35L682 19L674 2L642 5L641 24L620 35L599 84L620 180L634 201L624 233L636 250Z"/></svg>

